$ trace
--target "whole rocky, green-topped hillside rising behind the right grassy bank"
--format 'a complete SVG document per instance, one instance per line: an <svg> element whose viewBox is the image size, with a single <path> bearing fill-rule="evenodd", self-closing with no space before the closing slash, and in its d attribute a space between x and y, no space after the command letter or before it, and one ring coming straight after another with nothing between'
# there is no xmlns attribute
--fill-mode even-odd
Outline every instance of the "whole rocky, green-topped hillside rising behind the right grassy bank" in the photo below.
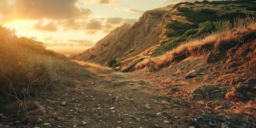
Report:
<svg viewBox="0 0 256 128"><path fill-rule="evenodd" d="M118 33L117 40L109 39L110 42L103 43L106 38L109 38L107 35L92 49L71 55L70 58L90 60L103 65L116 59L118 63L122 64L122 68L118 70L133 71L138 62L152 54L163 54L182 42L211 33L215 29L214 25L212 22L206 21L233 20L238 16L246 17L247 14L255 14L254 7L255 1L204 1L185 2L149 10L142 15L138 22L127 29L126 33L123 35ZM110 33L110 35L112 34L113 32ZM104 47L105 44L111 45ZM98 58L101 58L101 61Z"/></svg>

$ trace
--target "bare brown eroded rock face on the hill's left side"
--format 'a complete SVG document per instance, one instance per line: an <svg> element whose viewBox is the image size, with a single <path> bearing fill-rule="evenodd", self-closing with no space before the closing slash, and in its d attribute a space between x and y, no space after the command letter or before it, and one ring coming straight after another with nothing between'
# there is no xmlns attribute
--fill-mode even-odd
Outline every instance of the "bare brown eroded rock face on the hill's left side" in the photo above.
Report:
<svg viewBox="0 0 256 128"><path fill-rule="evenodd" d="M149 55L152 50L150 47L157 45L163 37L166 13L170 10L171 7L166 6L146 11L133 26L124 24L118 27L91 49L70 55L69 58L90 60L104 65L111 59L129 63L136 58ZM147 52L147 49L150 50ZM146 53L143 53L145 51Z"/></svg>

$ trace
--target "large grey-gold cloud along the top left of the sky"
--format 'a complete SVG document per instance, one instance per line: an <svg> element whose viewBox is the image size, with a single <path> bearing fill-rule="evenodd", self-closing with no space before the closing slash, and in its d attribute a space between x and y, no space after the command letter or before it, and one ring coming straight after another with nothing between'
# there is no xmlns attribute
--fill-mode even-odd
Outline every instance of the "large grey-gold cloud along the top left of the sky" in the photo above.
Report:
<svg viewBox="0 0 256 128"><path fill-rule="evenodd" d="M90 9L79 9L75 4L78 0L1 0L0 13L2 20L15 19L71 19L88 17L92 14Z"/></svg>

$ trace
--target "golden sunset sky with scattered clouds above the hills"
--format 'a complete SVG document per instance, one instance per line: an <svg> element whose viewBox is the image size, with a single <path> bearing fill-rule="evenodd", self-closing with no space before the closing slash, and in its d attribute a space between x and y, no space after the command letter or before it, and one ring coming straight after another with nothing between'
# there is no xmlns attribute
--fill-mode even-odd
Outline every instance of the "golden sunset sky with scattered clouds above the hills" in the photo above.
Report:
<svg viewBox="0 0 256 128"><path fill-rule="evenodd" d="M133 25L147 10L179 2L184 0L0 0L0 24L70 55L124 23Z"/></svg>

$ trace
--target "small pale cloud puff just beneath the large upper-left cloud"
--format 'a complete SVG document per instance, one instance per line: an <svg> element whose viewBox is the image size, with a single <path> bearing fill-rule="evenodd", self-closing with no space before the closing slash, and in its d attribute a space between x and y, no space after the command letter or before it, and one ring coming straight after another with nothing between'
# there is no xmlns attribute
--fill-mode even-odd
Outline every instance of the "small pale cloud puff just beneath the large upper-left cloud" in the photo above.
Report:
<svg viewBox="0 0 256 128"><path fill-rule="evenodd" d="M48 23L44 23L42 21L37 22L34 26L34 29L41 30L41 31L51 31L55 32L58 30L58 27L55 22L51 21Z"/></svg>

